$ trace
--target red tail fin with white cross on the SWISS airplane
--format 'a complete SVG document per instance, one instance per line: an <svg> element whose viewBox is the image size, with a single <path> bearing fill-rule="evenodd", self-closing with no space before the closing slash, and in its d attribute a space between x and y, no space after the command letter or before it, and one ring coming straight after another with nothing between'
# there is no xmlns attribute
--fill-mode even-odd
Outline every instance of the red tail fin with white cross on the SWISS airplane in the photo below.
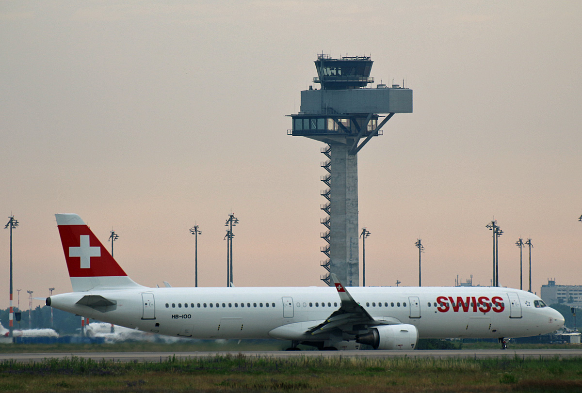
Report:
<svg viewBox="0 0 582 393"><path fill-rule="evenodd" d="M56 214L73 291L135 287L90 228L75 214Z"/></svg>

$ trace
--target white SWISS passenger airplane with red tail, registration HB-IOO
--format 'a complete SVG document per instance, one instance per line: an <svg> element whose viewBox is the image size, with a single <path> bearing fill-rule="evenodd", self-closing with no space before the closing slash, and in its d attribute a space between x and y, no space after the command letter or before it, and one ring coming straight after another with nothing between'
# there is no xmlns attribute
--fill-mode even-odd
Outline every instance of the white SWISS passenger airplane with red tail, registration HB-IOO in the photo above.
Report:
<svg viewBox="0 0 582 393"><path fill-rule="evenodd" d="M47 306L144 332L198 339L291 341L288 350L411 350L419 338L551 333L564 317L503 287L149 288L134 282L76 214L56 214L73 292Z"/></svg>

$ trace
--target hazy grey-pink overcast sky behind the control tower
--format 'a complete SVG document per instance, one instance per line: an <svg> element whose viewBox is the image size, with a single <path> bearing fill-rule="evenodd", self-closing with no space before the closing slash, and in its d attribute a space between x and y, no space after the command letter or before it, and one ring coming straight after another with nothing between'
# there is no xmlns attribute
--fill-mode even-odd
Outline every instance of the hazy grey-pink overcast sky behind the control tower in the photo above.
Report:
<svg viewBox="0 0 582 393"><path fill-rule="evenodd" d="M520 236L534 291L582 284L581 26L578 1L1 1L15 303L71 290L54 213L108 248L115 229L129 276L177 287L194 285L194 223L199 285L225 285L232 210L236 286L325 285L324 145L285 117L317 53L369 55L377 83L414 91L359 153L368 285L417 285L417 238L423 285L489 285L492 219L502 285L519 288ZM0 261L5 308L8 230Z"/></svg>

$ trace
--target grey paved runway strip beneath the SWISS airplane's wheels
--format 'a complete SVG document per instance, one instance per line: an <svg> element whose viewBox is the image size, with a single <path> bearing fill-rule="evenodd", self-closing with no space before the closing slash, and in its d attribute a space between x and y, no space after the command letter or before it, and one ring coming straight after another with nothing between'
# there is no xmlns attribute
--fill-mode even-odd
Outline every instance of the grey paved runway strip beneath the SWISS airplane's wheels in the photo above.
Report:
<svg viewBox="0 0 582 393"><path fill-rule="evenodd" d="M175 356L176 359L214 358L216 356L245 356L247 358L290 359L307 357L321 358L582 358L579 349L460 349L434 351L230 351L230 352L55 352L55 353L1 353L0 361L38 362L44 359L84 358L92 360L116 360L119 362L162 362Z"/></svg>

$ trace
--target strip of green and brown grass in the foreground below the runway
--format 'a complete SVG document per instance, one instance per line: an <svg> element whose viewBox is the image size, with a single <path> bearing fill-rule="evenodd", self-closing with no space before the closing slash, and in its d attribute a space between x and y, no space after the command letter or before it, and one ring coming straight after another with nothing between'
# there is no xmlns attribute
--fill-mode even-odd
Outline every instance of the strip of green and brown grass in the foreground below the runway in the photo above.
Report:
<svg viewBox="0 0 582 393"><path fill-rule="evenodd" d="M0 391L582 392L582 359L53 359L0 363Z"/></svg>

